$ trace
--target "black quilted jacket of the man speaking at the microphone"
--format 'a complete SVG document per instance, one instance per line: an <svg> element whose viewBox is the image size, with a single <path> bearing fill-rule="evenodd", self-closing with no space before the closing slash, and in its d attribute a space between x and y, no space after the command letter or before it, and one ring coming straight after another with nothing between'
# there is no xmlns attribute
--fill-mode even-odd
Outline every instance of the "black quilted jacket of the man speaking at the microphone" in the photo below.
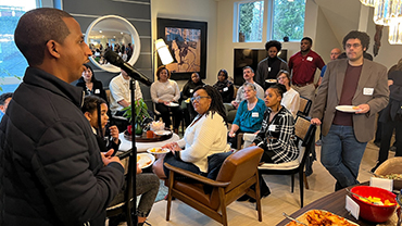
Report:
<svg viewBox="0 0 402 226"><path fill-rule="evenodd" d="M103 165L81 88L28 67L0 123L0 225L104 225L124 170Z"/></svg>

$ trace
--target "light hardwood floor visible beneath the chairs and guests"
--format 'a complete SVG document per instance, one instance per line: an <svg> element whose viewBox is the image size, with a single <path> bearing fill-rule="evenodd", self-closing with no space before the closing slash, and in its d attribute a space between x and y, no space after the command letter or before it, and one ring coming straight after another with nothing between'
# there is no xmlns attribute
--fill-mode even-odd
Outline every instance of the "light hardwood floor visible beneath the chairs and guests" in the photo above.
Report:
<svg viewBox="0 0 402 226"><path fill-rule="evenodd" d="M319 151L321 147L316 147L318 160ZM367 181L369 179L370 174L368 171L375 165L377 154L378 148L373 142L368 142L360 167L360 181ZM393 152L390 152L390 156L393 156ZM284 219L281 215L282 212L291 214L300 209L299 186L294 187L293 193L290 192L290 176L264 175L264 178L272 193L262 200L263 222L257 221L255 204L249 202L234 202L227 209L229 225L276 225ZM334 192L335 179L324 168L319 161L314 162L313 174L307 177L307 180L310 189L304 189L304 205ZM298 185L299 181L297 178L294 183ZM154 204L148 217L148 222L153 226L221 225L177 200L173 201L169 222L165 221L165 214L166 201L160 201Z"/></svg>

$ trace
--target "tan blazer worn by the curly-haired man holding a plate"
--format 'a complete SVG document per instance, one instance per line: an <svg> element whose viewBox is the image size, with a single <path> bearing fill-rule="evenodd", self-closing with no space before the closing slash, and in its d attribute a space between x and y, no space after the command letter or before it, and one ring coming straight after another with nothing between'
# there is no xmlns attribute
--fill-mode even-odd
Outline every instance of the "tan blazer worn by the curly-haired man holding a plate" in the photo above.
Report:
<svg viewBox="0 0 402 226"><path fill-rule="evenodd" d="M323 136L327 136L332 125L336 106L342 93L348 59L340 59L327 64L323 83L314 99L311 115L323 121ZM369 111L366 114L353 114L353 130L360 142L373 139L375 116L388 104L389 89L387 84L387 68L378 63L364 60L352 104L366 103Z"/></svg>

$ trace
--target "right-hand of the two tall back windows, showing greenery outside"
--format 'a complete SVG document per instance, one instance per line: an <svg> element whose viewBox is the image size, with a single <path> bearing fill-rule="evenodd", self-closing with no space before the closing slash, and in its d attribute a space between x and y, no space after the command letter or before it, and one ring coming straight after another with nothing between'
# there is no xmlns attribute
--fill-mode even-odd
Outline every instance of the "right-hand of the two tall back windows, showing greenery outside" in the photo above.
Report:
<svg viewBox="0 0 402 226"><path fill-rule="evenodd" d="M305 0L274 0L272 39L301 40L304 33Z"/></svg>

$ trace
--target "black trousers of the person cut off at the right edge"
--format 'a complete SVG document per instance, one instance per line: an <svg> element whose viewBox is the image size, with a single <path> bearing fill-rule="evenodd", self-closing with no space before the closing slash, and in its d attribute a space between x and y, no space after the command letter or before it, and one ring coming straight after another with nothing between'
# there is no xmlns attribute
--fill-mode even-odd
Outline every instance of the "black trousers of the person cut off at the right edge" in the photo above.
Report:
<svg viewBox="0 0 402 226"><path fill-rule="evenodd" d="M382 136L381 145L378 153L378 163L380 165L388 159L388 150L391 142L391 137L393 129L395 129L395 142L397 142L397 153L395 156L402 156L402 121L389 121L381 123L382 125Z"/></svg>

